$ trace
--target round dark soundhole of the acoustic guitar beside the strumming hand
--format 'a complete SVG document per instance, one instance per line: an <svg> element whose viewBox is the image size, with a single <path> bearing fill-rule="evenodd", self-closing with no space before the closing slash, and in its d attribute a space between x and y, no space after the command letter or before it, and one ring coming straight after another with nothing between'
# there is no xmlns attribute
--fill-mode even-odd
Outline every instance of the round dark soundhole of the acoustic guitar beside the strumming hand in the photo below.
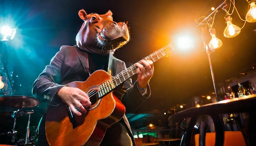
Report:
<svg viewBox="0 0 256 146"><path fill-rule="evenodd" d="M96 108L99 105L100 99L98 94L98 86L93 86L87 91L88 96L90 97L90 102L92 103L87 109Z"/></svg>

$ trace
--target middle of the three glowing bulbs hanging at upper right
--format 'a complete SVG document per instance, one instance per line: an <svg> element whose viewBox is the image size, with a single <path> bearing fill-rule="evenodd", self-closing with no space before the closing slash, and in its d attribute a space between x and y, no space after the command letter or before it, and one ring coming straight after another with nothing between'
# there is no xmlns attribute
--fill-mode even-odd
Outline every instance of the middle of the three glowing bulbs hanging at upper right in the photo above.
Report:
<svg viewBox="0 0 256 146"><path fill-rule="evenodd" d="M233 38L239 35L239 33L241 32L241 29L232 23L231 15L226 15L225 20L227 22L227 27L224 30L224 33L223 33L224 36L226 38Z"/></svg>

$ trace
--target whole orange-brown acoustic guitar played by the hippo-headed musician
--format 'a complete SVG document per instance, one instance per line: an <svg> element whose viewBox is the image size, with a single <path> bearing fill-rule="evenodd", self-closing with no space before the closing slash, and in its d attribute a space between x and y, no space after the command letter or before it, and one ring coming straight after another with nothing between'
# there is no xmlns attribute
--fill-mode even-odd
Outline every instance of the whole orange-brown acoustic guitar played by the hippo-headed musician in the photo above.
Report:
<svg viewBox="0 0 256 146"><path fill-rule="evenodd" d="M153 62L173 51L171 44L148 55L143 60ZM84 91L92 105L85 107L87 113L74 115L66 104L49 106L46 112L45 133L51 146L98 146L106 129L118 122L125 114L125 107L113 94L114 89L136 74L135 64L112 77L106 71L95 71L84 82L67 84ZM76 107L79 111L79 108Z"/></svg>

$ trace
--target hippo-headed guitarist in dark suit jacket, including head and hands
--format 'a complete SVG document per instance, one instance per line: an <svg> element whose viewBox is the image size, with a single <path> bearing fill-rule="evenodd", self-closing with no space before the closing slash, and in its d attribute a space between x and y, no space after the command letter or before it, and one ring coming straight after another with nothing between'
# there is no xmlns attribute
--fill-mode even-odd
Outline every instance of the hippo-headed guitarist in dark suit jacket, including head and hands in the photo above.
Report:
<svg viewBox="0 0 256 146"><path fill-rule="evenodd" d="M32 88L33 95L41 102L47 102L49 106L54 107L64 103L77 116L86 114L86 107L91 106L92 101L80 88L65 85L74 81L86 82L99 70L104 70L112 76L124 71L125 62L115 58L114 52L130 40L127 24L113 21L111 11L99 15L87 14L80 10L79 17L84 22L76 35L76 45L61 46L50 64L36 78ZM132 84L131 78L128 78L114 89L124 104L126 113L136 111L151 93L148 83L154 72L153 62L141 60L134 65L137 68L134 73L137 74L137 81ZM76 110L76 107L80 111ZM45 136L45 118L44 114L38 125L37 146L49 145ZM135 146L125 114L118 122L110 125L103 136L100 146Z"/></svg>

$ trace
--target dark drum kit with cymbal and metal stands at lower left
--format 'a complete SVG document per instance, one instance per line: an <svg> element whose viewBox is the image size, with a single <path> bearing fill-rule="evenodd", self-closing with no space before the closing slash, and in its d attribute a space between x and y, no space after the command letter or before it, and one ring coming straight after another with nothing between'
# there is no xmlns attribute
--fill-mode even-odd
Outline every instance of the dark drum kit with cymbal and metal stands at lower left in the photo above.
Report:
<svg viewBox="0 0 256 146"><path fill-rule="evenodd" d="M34 113L34 110L26 110L24 108L32 108L40 104L40 101L35 97L28 96L4 96L0 97L0 107L7 107L15 109L15 111L0 111L0 146L11 146L17 145L16 140L16 118L21 117L24 114L28 115L27 127L26 127L26 137L25 142L19 145L28 146L32 143L30 142L31 138L29 137L29 127L30 127L30 118L31 114ZM17 110L16 110L17 109ZM11 126L10 126L11 122ZM8 130L8 128L11 128ZM1 140L2 137L2 140ZM11 142L8 141L5 137L11 137ZM1 142L4 141L4 142ZM11 144L11 145L6 145ZM32 144L33 145L33 144Z"/></svg>

